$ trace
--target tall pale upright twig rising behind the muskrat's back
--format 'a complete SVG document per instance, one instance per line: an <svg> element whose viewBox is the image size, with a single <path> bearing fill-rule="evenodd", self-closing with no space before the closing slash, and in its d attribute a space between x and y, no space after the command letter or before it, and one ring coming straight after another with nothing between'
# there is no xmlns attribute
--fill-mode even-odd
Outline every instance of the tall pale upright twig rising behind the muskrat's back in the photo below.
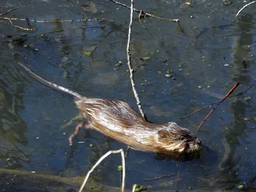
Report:
<svg viewBox="0 0 256 192"><path fill-rule="evenodd" d="M111 1L113 1L113 0L111 0ZM132 68L132 65L131 65L130 44L131 44L131 33L132 33L133 10L134 10L133 9L133 0L131 0L131 17L130 17L129 33L128 33L127 49L126 49L126 51L127 51L127 65L129 67L129 71L130 71L130 79L131 79L131 84L132 84L132 90L133 90L133 93L134 93L134 97L136 98L137 105L138 105L138 108L140 110L141 116L143 117L144 120L147 121L147 116L143 111L143 108L142 108L141 102L140 102L140 98L139 98L138 92L136 90L136 84L134 82L134 77L133 77L134 69Z"/></svg>

